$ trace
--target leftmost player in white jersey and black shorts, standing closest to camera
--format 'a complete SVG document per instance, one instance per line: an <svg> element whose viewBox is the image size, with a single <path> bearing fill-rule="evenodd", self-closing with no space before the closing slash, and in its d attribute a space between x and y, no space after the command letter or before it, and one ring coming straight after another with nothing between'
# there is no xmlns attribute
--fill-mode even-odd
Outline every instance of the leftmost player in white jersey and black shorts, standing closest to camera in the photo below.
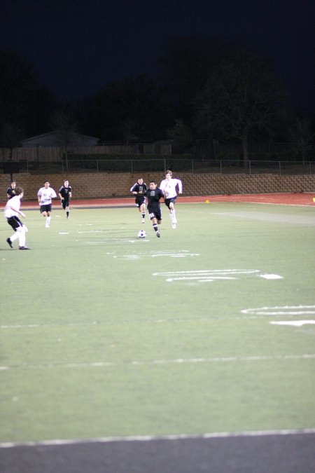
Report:
<svg viewBox="0 0 315 473"><path fill-rule="evenodd" d="M4 208L4 217L6 217L8 224L13 228L15 233L12 236L6 239L10 248L13 248L12 243L14 240L19 239L19 249L30 249L25 246L27 227L25 224L22 224L22 221L19 219L19 215L25 218L25 214L20 211L21 199L24 196L24 191L22 187L15 187L15 196L9 198Z"/></svg>

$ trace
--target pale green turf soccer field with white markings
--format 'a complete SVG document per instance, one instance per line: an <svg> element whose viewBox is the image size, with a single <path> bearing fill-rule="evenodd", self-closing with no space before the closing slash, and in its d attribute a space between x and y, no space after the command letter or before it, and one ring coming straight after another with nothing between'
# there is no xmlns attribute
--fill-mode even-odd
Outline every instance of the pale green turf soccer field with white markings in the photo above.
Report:
<svg viewBox="0 0 315 473"><path fill-rule="evenodd" d="M2 217L2 443L315 427L314 208L162 209Z"/></svg>

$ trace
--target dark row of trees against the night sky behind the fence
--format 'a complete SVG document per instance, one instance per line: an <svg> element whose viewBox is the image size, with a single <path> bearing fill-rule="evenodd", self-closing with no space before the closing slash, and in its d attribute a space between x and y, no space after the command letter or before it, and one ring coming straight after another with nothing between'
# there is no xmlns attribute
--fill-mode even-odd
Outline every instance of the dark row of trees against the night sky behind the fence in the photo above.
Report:
<svg viewBox="0 0 315 473"><path fill-rule="evenodd" d="M286 85L271 62L246 45L215 37L168 41L158 57L159 74L104 83L90 97L62 103L36 77L34 64L0 50L0 145L51 130L80 132L101 142L172 139L190 152L198 140L242 144L292 141L306 150L314 117L292 108Z"/></svg>

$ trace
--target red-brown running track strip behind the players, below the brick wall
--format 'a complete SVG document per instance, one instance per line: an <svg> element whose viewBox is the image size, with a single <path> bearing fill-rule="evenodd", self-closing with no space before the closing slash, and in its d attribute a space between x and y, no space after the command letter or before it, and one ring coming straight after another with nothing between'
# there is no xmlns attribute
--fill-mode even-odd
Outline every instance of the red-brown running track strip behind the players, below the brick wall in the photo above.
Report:
<svg viewBox="0 0 315 473"><path fill-rule="evenodd" d="M226 196L179 196L176 202L181 204L197 203L219 203L219 202L246 202L258 204L278 204L278 205L315 205L315 192L311 193L270 193L270 194L235 194ZM55 200L54 203L57 203ZM73 199L71 207L125 207L135 205L133 197L125 198L104 198L104 199ZM4 205L3 205L4 207ZM22 207L38 208L37 202L24 202Z"/></svg>

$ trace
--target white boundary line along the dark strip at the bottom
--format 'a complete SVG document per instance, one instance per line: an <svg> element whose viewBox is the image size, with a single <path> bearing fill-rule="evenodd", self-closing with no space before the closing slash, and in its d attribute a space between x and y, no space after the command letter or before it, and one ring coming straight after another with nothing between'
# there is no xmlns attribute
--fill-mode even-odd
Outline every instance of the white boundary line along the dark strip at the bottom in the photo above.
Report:
<svg viewBox="0 0 315 473"><path fill-rule="evenodd" d="M204 434L169 434L169 435L133 435L130 437L98 437L94 439L51 439L42 441L2 442L0 448L18 446L58 446L73 444L107 444L109 442L185 440L185 439L226 439L230 437L267 437L283 435L315 434L315 428L283 430L248 430L244 432L209 432Z"/></svg>

